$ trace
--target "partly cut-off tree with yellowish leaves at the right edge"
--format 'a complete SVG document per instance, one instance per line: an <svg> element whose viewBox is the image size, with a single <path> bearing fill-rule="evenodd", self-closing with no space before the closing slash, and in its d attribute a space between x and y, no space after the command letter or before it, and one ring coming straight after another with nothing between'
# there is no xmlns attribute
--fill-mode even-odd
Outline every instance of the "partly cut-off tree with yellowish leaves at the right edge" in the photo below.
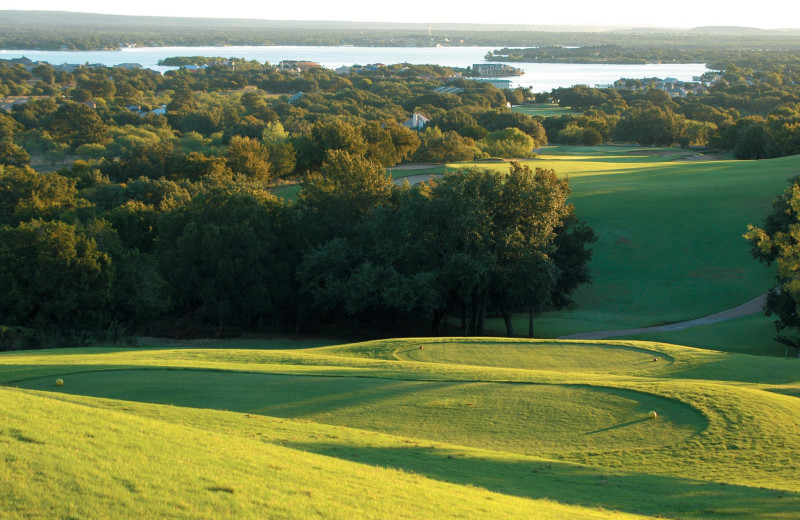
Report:
<svg viewBox="0 0 800 520"><path fill-rule="evenodd" d="M764 311L777 318L777 339L798 349L800 356L800 178L793 178L773 201L763 226L748 225L744 237L755 259L777 265L776 285L767 293Z"/></svg>

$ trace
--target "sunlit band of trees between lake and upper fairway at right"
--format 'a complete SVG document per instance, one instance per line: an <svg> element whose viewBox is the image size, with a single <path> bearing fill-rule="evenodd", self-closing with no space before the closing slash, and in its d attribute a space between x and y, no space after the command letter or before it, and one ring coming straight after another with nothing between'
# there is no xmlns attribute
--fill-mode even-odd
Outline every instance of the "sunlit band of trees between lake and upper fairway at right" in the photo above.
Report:
<svg viewBox="0 0 800 520"><path fill-rule="evenodd" d="M540 99L576 109L543 119L551 143L710 148L737 159L800 153L800 88L794 72L729 65L701 93L673 97L656 79L625 80L614 88L578 85ZM691 85L689 86L691 87Z"/></svg>

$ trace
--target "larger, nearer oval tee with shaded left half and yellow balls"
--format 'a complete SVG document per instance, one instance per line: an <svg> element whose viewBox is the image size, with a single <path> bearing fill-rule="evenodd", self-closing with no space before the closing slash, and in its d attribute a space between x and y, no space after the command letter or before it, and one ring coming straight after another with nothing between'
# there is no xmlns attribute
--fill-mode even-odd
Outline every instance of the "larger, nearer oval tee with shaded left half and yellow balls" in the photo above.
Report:
<svg viewBox="0 0 800 520"><path fill-rule="evenodd" d="M305 419L516 453L663 447L706 428L679 401L606 387L405 381L201 370L113 370L31 389ZM650 410L658 419L649 419Z"/></svg>

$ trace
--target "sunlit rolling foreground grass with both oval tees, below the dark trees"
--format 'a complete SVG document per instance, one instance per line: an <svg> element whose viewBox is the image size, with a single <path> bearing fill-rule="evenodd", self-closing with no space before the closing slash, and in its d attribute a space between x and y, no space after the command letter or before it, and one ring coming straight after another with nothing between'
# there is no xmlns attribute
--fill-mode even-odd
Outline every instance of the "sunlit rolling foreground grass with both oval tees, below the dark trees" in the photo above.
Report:
<svg viewBox="0 0 800 520"><path fill-rule="evenodd" d="M0 355L16 387L0 387L0 517L800 510L798 360L634 341L246 346Z"/></svg>

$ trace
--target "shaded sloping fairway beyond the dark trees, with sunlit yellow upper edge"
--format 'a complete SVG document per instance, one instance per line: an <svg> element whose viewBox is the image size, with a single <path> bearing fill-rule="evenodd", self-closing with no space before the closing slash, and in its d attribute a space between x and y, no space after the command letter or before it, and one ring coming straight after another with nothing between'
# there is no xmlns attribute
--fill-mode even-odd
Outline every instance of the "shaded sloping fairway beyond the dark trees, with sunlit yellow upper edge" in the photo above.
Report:
<svg viewBox="0 0 800 520"><path fill-rule="evenodd" d="M771 271L753 261L742 234L747 224L762 222L772 199L796 175L800 156L682 160L686 154L547 147L528 162L570 177L577 212L599 236L592 284L579 290L574 311L541 316L540 336L692 319L735 307L769 287ZM499 322L492 330L504 332ZM527 330L524 319L517 330Z"/></svg>

